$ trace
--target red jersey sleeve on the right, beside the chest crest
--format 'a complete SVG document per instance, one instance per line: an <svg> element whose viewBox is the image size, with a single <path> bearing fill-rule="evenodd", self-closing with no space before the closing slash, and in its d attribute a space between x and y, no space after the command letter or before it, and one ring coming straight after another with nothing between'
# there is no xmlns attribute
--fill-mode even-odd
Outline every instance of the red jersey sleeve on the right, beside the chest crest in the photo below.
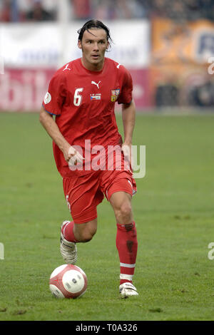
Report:
<svg viewBox="0 0 214 335"><path fill-rule="evenodd" d="M121 93L118 96L118 103L129 104L132 100L132 91L133 91L133 81L131 78L131 74L128 72L126 68L123 67L123 79L122 79L122 87Z"/></svg>

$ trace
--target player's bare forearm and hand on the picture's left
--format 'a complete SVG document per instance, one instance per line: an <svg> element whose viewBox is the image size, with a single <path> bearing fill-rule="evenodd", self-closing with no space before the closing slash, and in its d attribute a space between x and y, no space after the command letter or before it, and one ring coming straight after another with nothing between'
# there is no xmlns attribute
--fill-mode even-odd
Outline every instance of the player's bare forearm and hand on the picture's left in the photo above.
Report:
<svg viewBox="0 0 214 335"><path fill-rule="evenodd" d="M54 140L58 148L63 152L66 162L68 162L73 155L76 155L76 150L66 141L66 139L61 134L61 131L58 129L53 116L44 110L43 106L41 107L39 114L39 121L41 125L44 126L46 132Z"/></svg>

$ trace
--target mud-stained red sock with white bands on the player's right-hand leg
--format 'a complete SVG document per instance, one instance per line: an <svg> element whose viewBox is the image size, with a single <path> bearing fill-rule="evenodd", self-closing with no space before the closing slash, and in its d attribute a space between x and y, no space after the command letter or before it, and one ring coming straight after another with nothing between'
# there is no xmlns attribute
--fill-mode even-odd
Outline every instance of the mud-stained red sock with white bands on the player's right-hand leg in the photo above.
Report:
<svg viewBox="0 0 214 335"><path fill-rule="evenodd" d="M131 282L136 267L138 240L135 222L130 225L117 224L116 247L120 259L120 284Z"/></svg>

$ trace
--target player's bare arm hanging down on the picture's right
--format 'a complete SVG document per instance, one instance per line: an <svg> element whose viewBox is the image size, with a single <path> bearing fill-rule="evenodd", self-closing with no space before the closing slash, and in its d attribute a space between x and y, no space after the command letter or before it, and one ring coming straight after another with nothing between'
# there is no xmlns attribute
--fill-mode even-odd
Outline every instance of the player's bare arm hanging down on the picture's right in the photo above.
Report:
<svg viewBox="0 0 214 335"><path fill-rule="evenodd" d="M134 103L134 100L132 100L130 104L123 103L122 118L123 118L123 133L124 133L122 150L124 155L128 157L130 160L133 130L136 123L136 104Z"/></svg>

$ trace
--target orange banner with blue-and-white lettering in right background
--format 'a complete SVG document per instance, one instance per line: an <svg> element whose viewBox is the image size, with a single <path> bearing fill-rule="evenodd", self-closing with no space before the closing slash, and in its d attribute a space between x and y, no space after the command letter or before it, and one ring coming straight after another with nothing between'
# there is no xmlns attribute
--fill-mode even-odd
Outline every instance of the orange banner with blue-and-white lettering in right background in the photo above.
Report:
<svg viewBox="0 0 214 335"><path fill-rule="evenodd" d="M214 56L214 24L207 20L178 23L153 19L152 63L208 63Z"/></svg>

